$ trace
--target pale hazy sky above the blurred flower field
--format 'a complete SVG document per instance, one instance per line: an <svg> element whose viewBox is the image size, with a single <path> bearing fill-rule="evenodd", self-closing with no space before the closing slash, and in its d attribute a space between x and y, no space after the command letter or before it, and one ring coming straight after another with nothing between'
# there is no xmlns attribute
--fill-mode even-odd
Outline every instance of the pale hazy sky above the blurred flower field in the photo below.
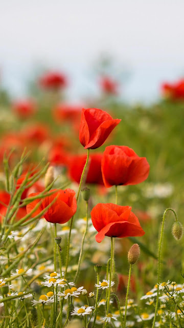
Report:
<svg viewBox="0 0 184 328"><path fill-rule="evenodd" d="M121 96L153 101L163 81L184 76L183 0L1 0L2 83L23 97L37 67L68 74L70 97L97 91L94 63L113 58ZM114 68L113 68L114 67Z"/></svg>

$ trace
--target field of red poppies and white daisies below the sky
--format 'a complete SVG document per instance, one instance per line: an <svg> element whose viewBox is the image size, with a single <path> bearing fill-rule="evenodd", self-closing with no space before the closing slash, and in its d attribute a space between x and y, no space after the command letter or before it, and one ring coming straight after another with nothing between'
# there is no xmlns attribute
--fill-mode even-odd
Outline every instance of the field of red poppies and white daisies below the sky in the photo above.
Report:
<svg viewBox="0 0 184 328"><path fill-rule="evenodd" d="M0 327L184 327L184 81L72 104L47 72L0 89Z"/></svg>

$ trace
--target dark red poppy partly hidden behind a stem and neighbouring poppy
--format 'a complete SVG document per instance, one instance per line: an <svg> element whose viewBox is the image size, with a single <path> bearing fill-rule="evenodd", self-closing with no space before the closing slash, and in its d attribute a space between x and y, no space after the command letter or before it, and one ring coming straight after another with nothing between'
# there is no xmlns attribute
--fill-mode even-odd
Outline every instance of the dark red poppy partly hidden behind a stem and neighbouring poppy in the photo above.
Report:
<svg viewBox="0 0 184 328"><path fill-rule="evenodd" d="M80 182L81 174L86 162L86 155L75 155L71 157L68 165L68 173L73 181ZM102 154L96 153L89 156L89 167L87 170L86 183L104 185L101 172Z"/></svg>

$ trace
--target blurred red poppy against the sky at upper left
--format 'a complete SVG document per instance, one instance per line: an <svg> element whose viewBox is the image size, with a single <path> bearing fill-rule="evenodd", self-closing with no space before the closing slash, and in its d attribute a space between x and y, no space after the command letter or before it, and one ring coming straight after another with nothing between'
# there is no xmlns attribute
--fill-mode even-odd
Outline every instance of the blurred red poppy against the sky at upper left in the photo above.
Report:
<svg viewBox="0 0 184 328"><path fill-rule="evenodd" d="M39 79L39 84L45 89L62 89L67 85L66 76L58 72L45 73Z"/></svg>

